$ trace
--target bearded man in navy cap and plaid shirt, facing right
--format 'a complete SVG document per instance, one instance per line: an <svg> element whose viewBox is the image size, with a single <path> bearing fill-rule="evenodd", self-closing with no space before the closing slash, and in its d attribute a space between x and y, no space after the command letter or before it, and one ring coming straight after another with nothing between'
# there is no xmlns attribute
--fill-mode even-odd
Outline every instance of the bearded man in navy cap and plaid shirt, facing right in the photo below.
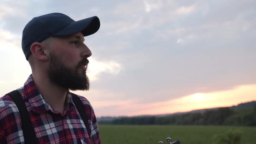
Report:
<svg viewBox="0 0 256 144"><path fill-rule="evenodd" d="M92 52L84 44L84 36L99 27L97 16L74 21L62 13L35 17L25 26L22 49L32 75L18 93L0 98L0 144L32 143L30 139L39 144L101 143L89 101L69 92L89 89L86 69ZM17 107L21 101L13 100L19 95L25 104L21 115L23 110ZM75 104L75 98L82 101L82 107ZM29 118L24 120L26 112ZM35 138L30 136L33 132L27 132L30 125Z"/></svg>

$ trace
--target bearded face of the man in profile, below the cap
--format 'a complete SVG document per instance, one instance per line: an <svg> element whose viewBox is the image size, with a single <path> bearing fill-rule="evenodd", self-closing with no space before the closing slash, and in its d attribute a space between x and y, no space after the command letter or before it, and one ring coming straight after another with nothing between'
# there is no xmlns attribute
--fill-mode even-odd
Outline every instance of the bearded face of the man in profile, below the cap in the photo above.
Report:
<svg viewBox="0 0 256 144"><path fill-rule="evenodd" d="M71 90L89 90L86 75L91 51L83 43L82 33L54 37L49 53L48 75L51 82Z"/></svg>

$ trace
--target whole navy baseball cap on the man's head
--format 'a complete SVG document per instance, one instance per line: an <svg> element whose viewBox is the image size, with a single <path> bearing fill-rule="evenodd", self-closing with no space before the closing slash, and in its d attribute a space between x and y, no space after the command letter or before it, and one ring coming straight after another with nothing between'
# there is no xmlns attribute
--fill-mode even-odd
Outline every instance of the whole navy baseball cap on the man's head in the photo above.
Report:
<svg viewBox="0 0 256 144"><path fill-rule="evenodd" d="M26 24L22 33L22 50L26 60L31 54L30 46L50 36L64 36L82 32L84 36L96 33L100 27L97 16L75 21L63 13L49 13L34 17Z"/></svg>

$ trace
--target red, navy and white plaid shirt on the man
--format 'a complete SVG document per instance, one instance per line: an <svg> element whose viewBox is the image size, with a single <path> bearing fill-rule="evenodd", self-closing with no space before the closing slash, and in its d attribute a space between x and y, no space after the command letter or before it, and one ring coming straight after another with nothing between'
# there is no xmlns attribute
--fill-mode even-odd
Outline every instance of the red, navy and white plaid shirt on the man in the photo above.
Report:
<svg viewBox="0 0 256 144"><path fill-rule="evenodd" d="M25 101L39 144L100 144L98 124L89 101L79 96L88 115L91 140L70 92L67 92L63 115L44 101L32 75L17 89ZM8 95L0 98L0 144L24 144L18 108Z"/></svg>

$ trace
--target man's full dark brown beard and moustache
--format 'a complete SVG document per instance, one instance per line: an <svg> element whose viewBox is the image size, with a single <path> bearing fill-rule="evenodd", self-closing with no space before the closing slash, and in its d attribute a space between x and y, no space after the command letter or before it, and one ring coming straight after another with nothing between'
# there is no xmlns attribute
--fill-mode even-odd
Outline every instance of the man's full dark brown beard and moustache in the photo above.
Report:
<svg viewBox="0 0 256 144"><path fill-rule="evenodd" d="M88 59L82 59L78 65L73 68L67 67L61 62L54 53L50 54L48 75L51 82L59 87L70 90L89 90L89 78L86 71L79 73L79 66Z"/></svg>

